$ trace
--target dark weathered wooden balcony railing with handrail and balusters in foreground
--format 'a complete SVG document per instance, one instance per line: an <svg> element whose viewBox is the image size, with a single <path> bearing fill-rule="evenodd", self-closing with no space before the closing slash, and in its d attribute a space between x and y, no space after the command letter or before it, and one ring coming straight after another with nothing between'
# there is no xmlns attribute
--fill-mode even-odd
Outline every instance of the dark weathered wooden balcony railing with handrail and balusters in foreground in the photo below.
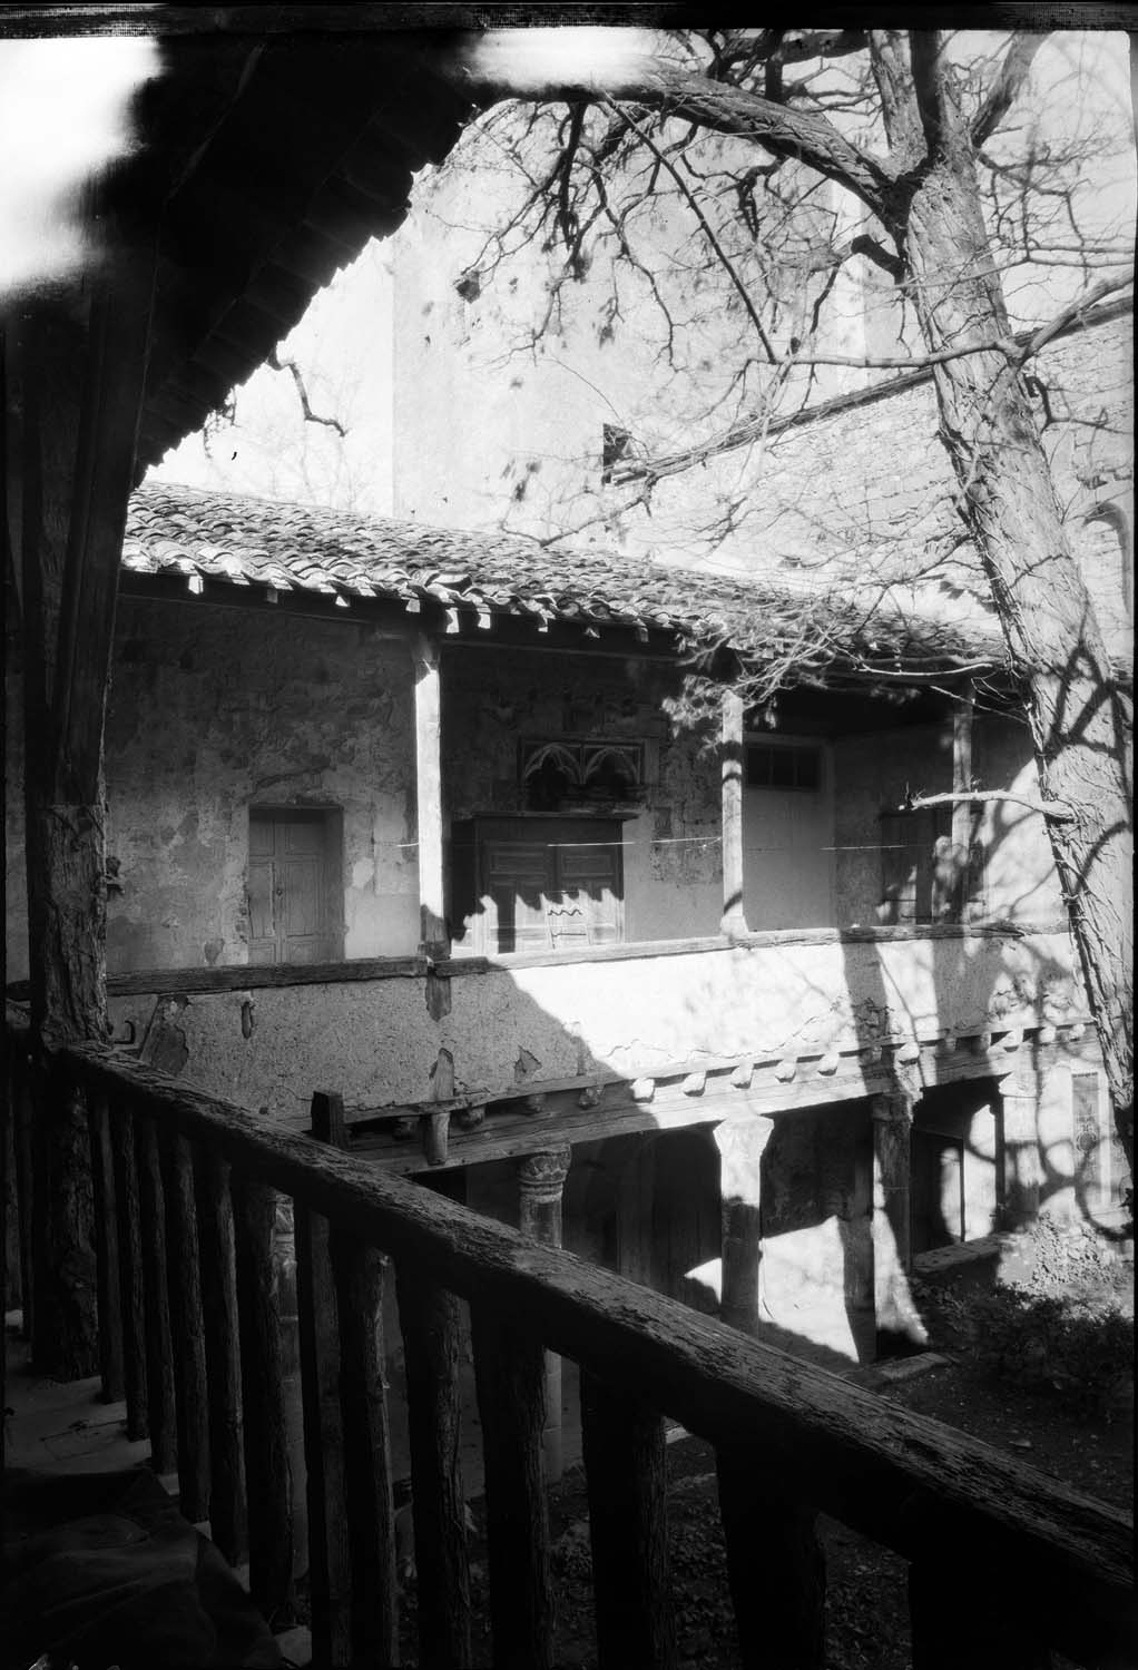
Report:
<svg viewBox="0 0 1138 1670"><path fill-rule="evenodd" d="M1130 1663L1131 1521L998 1450L722 1323L282 1132L99 1045L37 1064L10 1024L17 1096L85 1097L100 1318L120 1331L129 1421L177 1466L272 1620L292 1523L274 1191L294 1202L314 1662L398 1663L396 1530L379 1318L393 1261L406 1353L419 1663L471 1663L458 1461L470 1303L495 1667L555 1663L541 1461L543 1349L582 1369L598 1663L668 1667L663 1421L715 1446L747 1667L824 1663L819 1513L911 1561L916 1670L1028 1670L1058 1648ZM43 1065L50 1072L43 1072ZM316 1099L334 1137L336 1101ZM107 1351L107 1361L114 1353Z"/></svg>

